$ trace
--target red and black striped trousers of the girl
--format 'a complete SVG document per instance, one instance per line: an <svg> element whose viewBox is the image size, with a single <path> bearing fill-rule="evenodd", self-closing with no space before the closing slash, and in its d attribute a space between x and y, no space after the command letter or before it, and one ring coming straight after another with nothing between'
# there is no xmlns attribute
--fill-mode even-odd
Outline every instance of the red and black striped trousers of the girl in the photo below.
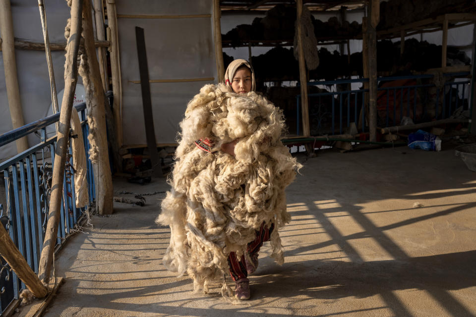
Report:
<svg viewBox="0 0 476 317"><path fill-rule="evenodd" d="M274 223L268 228L266 222L261 224L261 227L258 231L256 231L256 239L248 243L246 247L246 252L253 256L258 253L259 249L263 245L263 242L269 241L271 237L271 232L273 232ZM238 260L238 257L235 252L230 252L228 256L228 265L230 265L230 275L234 281L237 281L241 278L246 278L248 276L248 272L246 271L246 264L244 262L244 255Z"/></svg>

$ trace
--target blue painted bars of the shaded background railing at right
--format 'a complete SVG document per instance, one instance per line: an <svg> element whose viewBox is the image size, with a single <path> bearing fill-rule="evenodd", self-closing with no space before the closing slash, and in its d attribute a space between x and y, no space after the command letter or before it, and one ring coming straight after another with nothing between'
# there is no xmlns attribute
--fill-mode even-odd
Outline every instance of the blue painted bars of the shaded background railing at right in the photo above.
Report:
<svg viewBox="0 0 476 317"><path fill-rule="evenodd" d="M383 105L380 102L379 109L380 111L383 111L381 116L384 115L384 117L381 118L383 122L380 122L380 125L385 125L386 127L389 126L389 124L396 125L397 122L399 122L404 116L410 116L413 117L414 121L415 119L418 120L435 120L435 119L444 119L453 114L453 111L457 109L460 106L465 106L465 93L470 92L470 90L466 90L466 85L470 84L470 80L464 80L465 78L468 78L470 76L470 72L452 72L452 73L444 73L444 77L454 77L454 78L460 78L463 79L462 81L451 81L451 82L445 82L443 86L441 87L436 87L435 84L429 83L415 83L415 84L409 84L409 85L399 85L399 86L390 86L390 87L378 87L377 92L383 92L383 95L380 97L385 98L383 101ZM432 74L425 74L425 75L408 75L408 76L387 76L387 77L379 77L377 78L377 81L379 83L383 82L389 82L389 81L401 81L401 80L424 80L424 79L432 79L434 75ZM308 82L308 86L321 86L321 85L327 85L327 86L333 86L333 85L339 85L339 84L351 84L351 83L361 83L363 85L364 82L368 82L368 78L358 78L358 79L339 79L339 80L333 80L333 81L312 81ZM428 102L430 101L428 99L428 89L436 87L436 95L435 100L434 100L434 108L431 108L431 111L434 109L434 114L432 112L428 112ZM443 92L441 91L441 88L443 89ZM424 97L422 95L419 95L418 92L422 90L424 92ZM440 93L443 93L443 100L441 100L441 105L440 105ZM456 92L458 93L456 98L455 94ZM340 134L343 133L344 129L344 118L347 118L346 120L346 126L350 126L350 118L352 116L352 111L354 111L354 122L356 122L357 125L357 117L358 114L361 114L361 126L360 126L360 132L365 132L365 106L364 106L364 101L365 101L365 94L368 93L368 89L359 89L359 90L343 90L343 91L331 91L331 92L323 92L323 93L311 93L308 94L309 97L309 106L315 106L312 102L313 97L318 97L318 104L317 108L319 111L317 112L312 112L309 111L309 117L317 116L317 118L314 120L315 122L318 122L317 128L321 129L321 123L326 120L331 120L330 126L328 126L327 131L324 131L323 133L325 134L335 134L336 132L339 132ZM461 103L460 103L460 98L459 95L461 93ZM321 97L331 97L331 101L327 101L325 105L321 104ZM412 105L412 97L413 96L413 105ZM344 103L344 98L347 97L347 109L344 110L343 103ZM380 97L378 99L380 99ZM351 106L351 100L354 98L354 103ZM339 99L339 109L336 109L336 99ZM417 99L420 101L421 104L421 111L417 112L419 107L417 108ZM296 123L296 134L300 134L300 95L296 96L297 100L297 123ZM359 103L359 101L362 101ZM392 105L390 105L390 101L392 101ZM328 107L329 112L324 113L320 110L321 106L326 106ZM440 111L441 107L441 111ZM393 108L393 113L390 112L390 109ZM399 108L399 111L397 112L397 109ZM413 112L412 112L413 111ZM339 112L339 118L336 117L336 112ZM325 118L325 116L330 114L330 118ZM432 117L429 117L431 116ZM320 117L319 117L320 116ZM391 121L390 121L391 120ZM335 127L335 124L338 124L339 126ZM311 130L312 130L312 125L311 125ZM312 133L312 132L311 132ZM319 134L319 133L318 133ZM313 134L314 135L314 134Z"/></svg>

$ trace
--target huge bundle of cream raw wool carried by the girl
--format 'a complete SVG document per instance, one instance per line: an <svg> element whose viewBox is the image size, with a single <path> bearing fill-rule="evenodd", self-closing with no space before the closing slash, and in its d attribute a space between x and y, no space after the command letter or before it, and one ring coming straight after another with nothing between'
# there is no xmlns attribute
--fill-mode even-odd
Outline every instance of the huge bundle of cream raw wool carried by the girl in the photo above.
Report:
<svg viewBox="0 0 476 317"><path fill-rule="evenodd" d="M196 292L221 283L222 295L229 297L228 255L245 254L263 221L276 229L290 221L285 188L301 165L279 140L282 111L255 92L238 95L223 84L206 85L188 103L180 127L172 189L157 218L171 228L163 263L179 275L186 271ZM204 138L216 141L212 153L195 146ZM219 151L237 139L235 157ZM271 256L283 264L276 229Z"/></svg>

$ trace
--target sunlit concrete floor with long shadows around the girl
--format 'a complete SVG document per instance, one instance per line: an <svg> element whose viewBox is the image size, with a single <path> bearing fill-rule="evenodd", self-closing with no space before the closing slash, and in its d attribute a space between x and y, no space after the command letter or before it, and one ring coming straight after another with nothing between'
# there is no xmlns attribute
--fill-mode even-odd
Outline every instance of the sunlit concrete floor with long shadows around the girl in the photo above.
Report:
<svg viewBox="0 0 476 317"><path fill-rule="evenodd" d="M158 194L143 208L116 203L72 238L45 316L476 316L476 173L452 150L329 151L301 174L287 190L286 262L274 264L265 243L242 305L218 289L193 294L189 278L164 269ZM124 189L168 185L116 180Z"/></svg>

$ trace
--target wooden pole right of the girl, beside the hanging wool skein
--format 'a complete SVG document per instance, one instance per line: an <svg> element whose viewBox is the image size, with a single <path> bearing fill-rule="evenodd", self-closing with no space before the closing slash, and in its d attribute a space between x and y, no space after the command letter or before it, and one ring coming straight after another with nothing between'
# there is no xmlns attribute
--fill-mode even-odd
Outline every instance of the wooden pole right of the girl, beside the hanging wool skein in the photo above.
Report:
<svg viewBox="0 0 476 317"><path fill-rule="evenodd" d="M306 78L306 62L304 60L304 52L302 48L302 0L296 0L297 8L297 52L299 61L299 82L301 85L301 112L302 112L302 134L305 137L311 135L309 127L309 109L307 101L307 78Z"/></svg>

